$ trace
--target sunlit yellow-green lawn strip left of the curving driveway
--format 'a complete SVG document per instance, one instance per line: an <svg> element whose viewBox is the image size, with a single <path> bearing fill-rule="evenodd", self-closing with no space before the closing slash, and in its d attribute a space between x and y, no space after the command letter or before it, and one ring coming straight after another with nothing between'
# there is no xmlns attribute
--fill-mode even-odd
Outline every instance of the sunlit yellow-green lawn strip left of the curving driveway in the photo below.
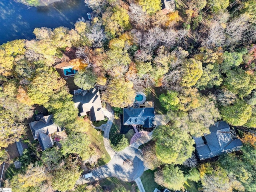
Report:
<svg viewBox="0 0 256 192"><path fill-rule="evenodd" d="M106 151L103 143L103 136L100 130L96 130L93 127L90 127L86 134L90 137L92 144L102 152L102 158L98 160L98 164L96 166L102 166L110 161L110 156Z"/></svg>

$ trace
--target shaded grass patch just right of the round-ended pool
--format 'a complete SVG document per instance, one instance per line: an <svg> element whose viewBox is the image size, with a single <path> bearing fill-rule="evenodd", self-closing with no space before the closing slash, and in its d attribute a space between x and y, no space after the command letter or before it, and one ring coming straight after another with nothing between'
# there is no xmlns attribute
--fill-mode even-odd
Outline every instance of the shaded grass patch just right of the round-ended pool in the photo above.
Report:
<svg viewBox="0 0 256 192"><path fill-rule="evenodd" d="M166 110L161 106L159 101L159 96L162 93L166 94L166 90L162 89L161 87L146 88L144 93L146 94L148 101L154 102L156 114L166 114Z"/></svg>

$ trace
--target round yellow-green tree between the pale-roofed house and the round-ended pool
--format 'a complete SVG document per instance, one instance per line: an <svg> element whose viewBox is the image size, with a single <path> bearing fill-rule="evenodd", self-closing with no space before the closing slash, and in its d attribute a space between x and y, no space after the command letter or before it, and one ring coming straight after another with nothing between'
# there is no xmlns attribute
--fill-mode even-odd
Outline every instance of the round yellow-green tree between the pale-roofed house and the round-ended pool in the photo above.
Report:
<svg viewBox="0 0 256 192"><path fill-rule="evenodd" d="M126 82L124 78L114 78L102 92L102 100L114 107L126 107L134 102L135 92L132 86L132 82Z"/></svg>

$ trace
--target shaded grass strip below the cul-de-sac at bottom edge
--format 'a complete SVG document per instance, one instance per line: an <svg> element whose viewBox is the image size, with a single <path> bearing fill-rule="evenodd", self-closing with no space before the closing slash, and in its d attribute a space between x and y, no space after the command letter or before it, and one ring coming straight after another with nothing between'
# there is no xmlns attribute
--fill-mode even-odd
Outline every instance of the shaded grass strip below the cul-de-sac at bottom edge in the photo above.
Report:
<svg viewBox="0 0 256 192"><path fill-rule="evenodd" d="M115 188L120 188L124 186L130 192L134 192L131 183L120 181L118 178L115 177L108 177L106 179L100 180L99 184L100 186L107 186L110 191L113 191Z"/></svg>

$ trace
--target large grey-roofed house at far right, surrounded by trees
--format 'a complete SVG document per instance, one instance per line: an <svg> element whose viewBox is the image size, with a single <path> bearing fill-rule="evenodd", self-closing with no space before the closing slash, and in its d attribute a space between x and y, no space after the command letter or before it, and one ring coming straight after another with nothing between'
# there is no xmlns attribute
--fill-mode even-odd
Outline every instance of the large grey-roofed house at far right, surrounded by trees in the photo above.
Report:
<svg viewBox="0 0 256 192"><path fill-rule="evenodd" d="M210 134L203 137L193 137L200 160L237 151L242 146L241 140L236 138L235 132L230 131L230 126L226 122L216 122L209 129Z"/></svg>

